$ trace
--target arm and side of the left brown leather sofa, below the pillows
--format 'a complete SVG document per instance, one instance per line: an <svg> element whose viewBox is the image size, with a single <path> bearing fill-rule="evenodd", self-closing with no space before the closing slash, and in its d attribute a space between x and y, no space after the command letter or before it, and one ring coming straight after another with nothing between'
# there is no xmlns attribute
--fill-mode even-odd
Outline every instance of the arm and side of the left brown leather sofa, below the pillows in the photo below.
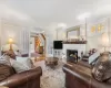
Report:
<svg viewBox="0 0 111 88"><path fill-rule="evenodd" d="M13 73L14 70L12 70ZM41 67L36 67L27 72L13 74L0 81L0 86L9 88L40 88Z"/></svg>

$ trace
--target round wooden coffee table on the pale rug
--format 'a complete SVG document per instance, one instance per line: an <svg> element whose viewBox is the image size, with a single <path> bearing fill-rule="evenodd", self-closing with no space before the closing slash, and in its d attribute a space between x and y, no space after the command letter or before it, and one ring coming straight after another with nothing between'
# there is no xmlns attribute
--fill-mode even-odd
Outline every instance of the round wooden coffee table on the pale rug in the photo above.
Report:
<svg viewBox="0 0 111 88"><path fill-rule="evenodd" d="M51 68L54 68L58 65L58 57L47 57L46 65L50 66Z"/></svg>

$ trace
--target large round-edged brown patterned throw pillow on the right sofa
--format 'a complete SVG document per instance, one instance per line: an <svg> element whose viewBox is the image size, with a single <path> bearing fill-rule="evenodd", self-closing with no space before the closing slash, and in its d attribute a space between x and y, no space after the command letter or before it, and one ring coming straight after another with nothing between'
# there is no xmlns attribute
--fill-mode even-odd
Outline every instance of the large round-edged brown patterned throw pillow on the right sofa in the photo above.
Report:
<svg viewBox="0 0 111 88"><path fill-rule="evenodd" d="M103 54L92 69L93 77L99 81L107 81L111 78L111 55Z"/></svg>

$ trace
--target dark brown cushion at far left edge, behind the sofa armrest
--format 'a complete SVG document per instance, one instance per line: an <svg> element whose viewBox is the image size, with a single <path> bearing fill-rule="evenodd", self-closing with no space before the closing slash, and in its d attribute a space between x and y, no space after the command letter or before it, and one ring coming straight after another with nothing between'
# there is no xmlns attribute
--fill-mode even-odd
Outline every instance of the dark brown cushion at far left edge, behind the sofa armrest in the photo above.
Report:
<svg viewBox="0 0 111 88"><path fill-rule="evenodd" d="M14 72L12 67L8 65L0 64L0 81L13 75Z"/></svg>

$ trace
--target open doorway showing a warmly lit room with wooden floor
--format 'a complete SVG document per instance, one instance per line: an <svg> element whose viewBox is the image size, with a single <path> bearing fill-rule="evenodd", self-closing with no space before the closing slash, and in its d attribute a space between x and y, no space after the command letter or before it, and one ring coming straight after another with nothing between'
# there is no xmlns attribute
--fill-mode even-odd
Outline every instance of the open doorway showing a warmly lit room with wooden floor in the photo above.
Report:
<svg viewBox="0 0 111 88"><path fill-rule="evenodd" d="M46 35L43 33L31 33L30 35L30 55L34 62L46 58Z"/></svg>

